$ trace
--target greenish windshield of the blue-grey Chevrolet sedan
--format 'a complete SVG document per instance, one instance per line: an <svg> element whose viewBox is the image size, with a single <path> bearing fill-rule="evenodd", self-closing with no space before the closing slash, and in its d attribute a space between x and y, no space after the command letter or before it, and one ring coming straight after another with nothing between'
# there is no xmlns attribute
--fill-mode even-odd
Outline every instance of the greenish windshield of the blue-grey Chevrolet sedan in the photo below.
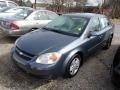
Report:
<svg viewBox="0 0 120 90"><path fill-rule="evenodd" d="M51 31L62 32L63 34L80 35L84 31L88 20L82 17L60 16L50 22L45 28Z"/></svg>

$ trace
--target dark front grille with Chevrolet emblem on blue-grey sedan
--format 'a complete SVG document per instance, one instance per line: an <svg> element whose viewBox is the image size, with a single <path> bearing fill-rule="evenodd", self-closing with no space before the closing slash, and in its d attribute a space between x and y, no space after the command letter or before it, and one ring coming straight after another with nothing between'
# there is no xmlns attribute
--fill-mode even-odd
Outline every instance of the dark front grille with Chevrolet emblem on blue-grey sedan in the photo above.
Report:
<svg viewBox="0 0 120 90"><path fill-rule="evenodd" d="M30 61L34 57L34 55L26 53L17 47L15 49L15 52L19 57L21 57L22 59L27 60L27 61Z"/></svg>

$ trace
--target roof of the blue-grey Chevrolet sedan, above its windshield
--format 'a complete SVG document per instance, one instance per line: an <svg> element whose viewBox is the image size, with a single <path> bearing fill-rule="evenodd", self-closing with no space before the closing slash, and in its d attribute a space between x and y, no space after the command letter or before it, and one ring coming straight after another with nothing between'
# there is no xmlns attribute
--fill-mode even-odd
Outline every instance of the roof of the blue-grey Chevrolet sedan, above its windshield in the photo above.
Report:
<svg viewBox="0 0 120 90"><path fill-rule="evenodd" d="M92 18L92 17L105 17L105 15L102 14L96 14L96 13L68 13L64 14L65 16L72 16L72 17L84 17L84 18Z"/></svg>

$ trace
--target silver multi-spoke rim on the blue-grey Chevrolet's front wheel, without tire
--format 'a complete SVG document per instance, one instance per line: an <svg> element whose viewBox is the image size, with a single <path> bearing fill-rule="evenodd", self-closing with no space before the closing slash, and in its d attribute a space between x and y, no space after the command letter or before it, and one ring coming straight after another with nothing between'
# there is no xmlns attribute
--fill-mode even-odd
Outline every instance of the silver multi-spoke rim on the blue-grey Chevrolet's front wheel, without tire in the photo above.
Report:
<svg viewBox="0 0 120 90"><path fill-rule="evenodd" d="M71 65L70 65L70 74L75 75L80 67L80 59L74 58Z"/></svg>

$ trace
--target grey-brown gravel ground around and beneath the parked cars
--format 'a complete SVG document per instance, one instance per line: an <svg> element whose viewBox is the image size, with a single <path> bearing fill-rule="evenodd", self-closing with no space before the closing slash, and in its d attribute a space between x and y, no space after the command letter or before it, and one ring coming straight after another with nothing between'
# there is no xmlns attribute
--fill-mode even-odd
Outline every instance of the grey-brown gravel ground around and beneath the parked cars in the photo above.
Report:
<svg viewBox="0 0 120 90"><path fill-rule="evenodd" d="M55 80L30 76L17 68L10 59L10 49L16 38L5 37L0 32L0 90L114 90L110 79L110 65L120 45L119 28L109 50L99 51L91 56L71 79L61 77Z"/></svg>

